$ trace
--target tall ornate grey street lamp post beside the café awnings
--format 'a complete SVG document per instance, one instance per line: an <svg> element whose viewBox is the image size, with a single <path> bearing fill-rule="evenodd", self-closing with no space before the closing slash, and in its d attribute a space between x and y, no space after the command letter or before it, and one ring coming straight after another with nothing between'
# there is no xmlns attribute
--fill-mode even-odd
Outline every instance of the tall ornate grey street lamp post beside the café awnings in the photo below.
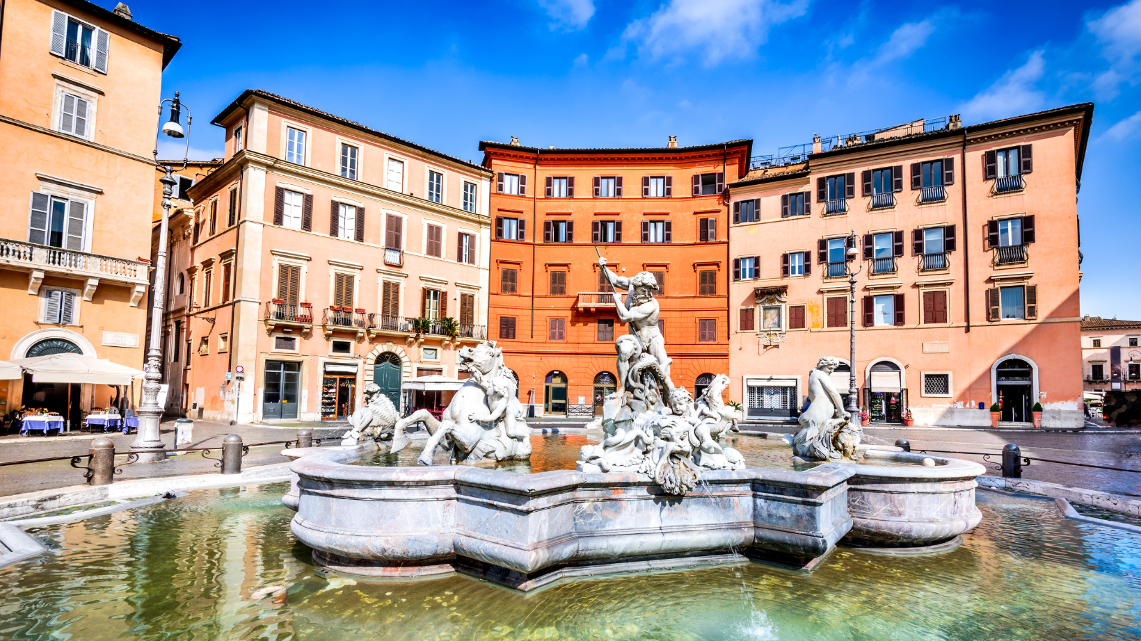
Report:
<svg viewBox="0 0 1141 641"><path fill-rule="evenodd" d="M189 138L183 131L183 125L178 123L178 116L183 109L183 103L175 92L173 99L168 98L159 103L159 120L162 120L163 105L170 103L170 120L162 125L162 132L171 138L187 138L186 154L183 157L181 169L186 169L188 152L191 147ZM186 111L186 128L191 127L191 112ZM154 149L154 159L159 160L157 145ZM181 169L177 171L181 171ZM146 354L146 373L143 374L143 403L139 405L139 429L131 449L164 449L162 435L159 431L159 422L162 419L162 407L159 405L159 391L162 381L162 324L163 302L167 295L167 227L170 220L170 196L173 194L176 185L173 172L176 169L162 165L164 176L159 179L162 182L162 222L159 225L159 253L155 257L154 284L151 285L153 302L151 307L151 348ZM157 463L167 460L165 452L148 452L139 455L139 461L146 463Z"/></svg>

